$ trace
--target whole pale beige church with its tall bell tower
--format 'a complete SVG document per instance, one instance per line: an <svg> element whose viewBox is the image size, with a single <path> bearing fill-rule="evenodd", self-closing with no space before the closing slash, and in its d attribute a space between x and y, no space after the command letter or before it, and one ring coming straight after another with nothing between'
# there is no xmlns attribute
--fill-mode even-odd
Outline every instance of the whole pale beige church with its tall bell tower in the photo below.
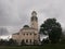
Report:
<svg viewBox="0 0 65 49"><path fill-rule="evenodd" d="M12 39L16 40L18 44L24 41L26 45L39 44L40 35L38 30L38 17L37 12L31 12L30 26L24 25L18 33L12 35Z"/></svg>

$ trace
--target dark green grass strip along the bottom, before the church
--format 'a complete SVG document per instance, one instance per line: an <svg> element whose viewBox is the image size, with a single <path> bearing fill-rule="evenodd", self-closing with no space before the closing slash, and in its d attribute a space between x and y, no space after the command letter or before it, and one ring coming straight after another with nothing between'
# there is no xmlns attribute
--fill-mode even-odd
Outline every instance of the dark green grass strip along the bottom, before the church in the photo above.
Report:
<svg viewBox="0 0 65 49"><path fill-rule="evenodd" d="M0 49L65 49L65 45L43 45L43 46L22 46L22 47L0 47Z"/></svg>

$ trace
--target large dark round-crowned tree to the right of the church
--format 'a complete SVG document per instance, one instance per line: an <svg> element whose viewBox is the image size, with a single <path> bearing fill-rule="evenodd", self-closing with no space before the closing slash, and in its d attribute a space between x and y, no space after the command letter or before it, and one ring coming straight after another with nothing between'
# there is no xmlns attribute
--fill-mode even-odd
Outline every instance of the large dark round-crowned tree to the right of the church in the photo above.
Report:
<svg viewBox="0 0 65 49"><path fill-rule="evenodd" d="M51 42L57 42L62 35L62 27L55 19L48 19L40 26L40 34L49 36Z"/></svg>

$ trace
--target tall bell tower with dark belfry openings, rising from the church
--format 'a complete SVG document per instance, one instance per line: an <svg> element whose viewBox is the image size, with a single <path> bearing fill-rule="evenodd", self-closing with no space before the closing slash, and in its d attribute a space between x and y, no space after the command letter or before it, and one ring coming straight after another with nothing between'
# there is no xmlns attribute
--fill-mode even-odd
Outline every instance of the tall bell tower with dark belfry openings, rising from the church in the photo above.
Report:
<svg viewBox="0 0 65 49"><path fill-rule="evenodd" d="M38 17L37 17L37 12L36 12L36 11L32 11L32 12L31 12L30 23L31 23L31 27L32 27L32 28L38 29Z"/></svg>

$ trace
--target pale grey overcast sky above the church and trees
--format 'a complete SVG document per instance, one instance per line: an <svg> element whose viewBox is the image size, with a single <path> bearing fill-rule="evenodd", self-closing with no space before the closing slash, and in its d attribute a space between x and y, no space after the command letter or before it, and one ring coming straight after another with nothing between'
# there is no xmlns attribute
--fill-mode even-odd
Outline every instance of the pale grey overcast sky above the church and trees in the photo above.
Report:
<svg viewBox="0 0 65 49"><path fill-rule="evenodd" d="M18 32L30 23L34 10L38 13L39 25L55 17L65 28L65 0L0 0L0 27L6 28L9 34Z"/></svg>

